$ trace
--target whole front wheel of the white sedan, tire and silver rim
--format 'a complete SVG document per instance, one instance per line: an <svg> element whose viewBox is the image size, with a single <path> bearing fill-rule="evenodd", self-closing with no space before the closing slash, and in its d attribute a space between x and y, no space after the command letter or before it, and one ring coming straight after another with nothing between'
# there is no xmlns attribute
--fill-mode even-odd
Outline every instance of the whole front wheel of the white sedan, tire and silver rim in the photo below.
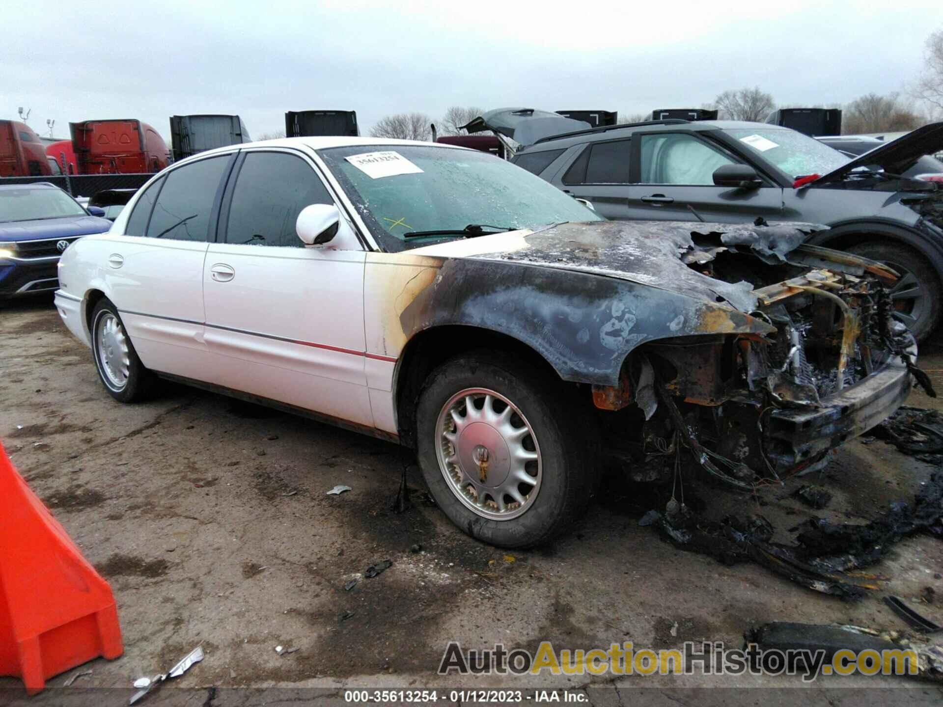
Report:
<svg viewBox="0 0 943 707"><path fill-rule="evenodd" d="M422 475L466 533L521 548L563 533L593 479L569 391L533 367L466 354L430 374L417 411Z"/></svg>

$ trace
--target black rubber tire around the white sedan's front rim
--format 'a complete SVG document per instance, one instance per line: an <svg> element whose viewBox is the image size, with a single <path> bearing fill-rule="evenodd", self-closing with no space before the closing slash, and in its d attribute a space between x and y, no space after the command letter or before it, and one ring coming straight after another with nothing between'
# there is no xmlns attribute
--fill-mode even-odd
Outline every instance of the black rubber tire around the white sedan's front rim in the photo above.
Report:
<svg viewBox="0 0 943 707"><path fill-rule="evenodd" d="M486 518L473 511L459 500L461 492L454 490L440 467L439 415L455 395L468 388L486 388L513 403L537 440L538 492L533 500L526 497L529 505L517 518ZM587 436L577 434L574 422L582 417L585 423L580 410L571 390L559 379L510 356L472 352L439 366L426 379L417 410L419 466L438 506L472 537L502 548L532 547L563 534L585 511L596 476Z"/></svg>

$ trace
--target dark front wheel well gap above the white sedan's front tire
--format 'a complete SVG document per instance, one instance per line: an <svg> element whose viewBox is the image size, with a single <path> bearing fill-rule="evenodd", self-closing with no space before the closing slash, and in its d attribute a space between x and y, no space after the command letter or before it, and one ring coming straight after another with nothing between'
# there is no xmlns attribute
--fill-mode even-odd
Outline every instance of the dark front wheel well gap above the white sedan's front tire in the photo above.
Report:
<svg viewBox="0 0 943 707"><path fill-rule="evenodd" d="M416 404L429 373L450 358L483 349L513 354L543 370L547 375L558 380L560 378L543 356L527 344L506 334L460 324L426 329L406 344L393 380L396 426L402 444L407 447L416 446Z"/></svg>

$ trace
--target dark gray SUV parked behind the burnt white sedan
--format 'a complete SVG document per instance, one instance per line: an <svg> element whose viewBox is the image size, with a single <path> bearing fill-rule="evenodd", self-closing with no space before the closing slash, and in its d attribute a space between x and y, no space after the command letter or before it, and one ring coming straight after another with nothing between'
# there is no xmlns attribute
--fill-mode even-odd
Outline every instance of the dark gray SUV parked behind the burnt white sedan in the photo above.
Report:
<svg viewBox="0 0 943 707"><path fill-rule="evenodd" d="M776 125L671 120L543 137L513 161L607 219L827 224L810 242L901 273L894 306L926 337L941 312L943 191L900 175L941 148L943 123L849 159Z"/></svg>

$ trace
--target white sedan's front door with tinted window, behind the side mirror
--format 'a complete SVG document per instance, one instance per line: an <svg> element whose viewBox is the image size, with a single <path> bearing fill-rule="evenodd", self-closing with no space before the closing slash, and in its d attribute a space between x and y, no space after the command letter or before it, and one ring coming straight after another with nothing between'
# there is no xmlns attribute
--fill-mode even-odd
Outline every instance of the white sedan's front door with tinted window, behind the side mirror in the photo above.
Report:
<svg viewBox="0 0 943 707"><path fill-rule="evenodd" d="M313 161L244 150L231 181L203 273L213 380L372 427L365 252L305 247L295 231L303 208L335 204Z"/></svg>

